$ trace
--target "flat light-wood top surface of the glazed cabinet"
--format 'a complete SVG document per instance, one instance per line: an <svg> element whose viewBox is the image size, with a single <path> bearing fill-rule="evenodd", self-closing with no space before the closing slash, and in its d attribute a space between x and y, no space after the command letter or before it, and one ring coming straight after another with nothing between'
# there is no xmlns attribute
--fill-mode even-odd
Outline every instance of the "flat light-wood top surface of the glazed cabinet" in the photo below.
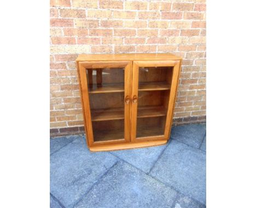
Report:
<svg viewBox="0 0 256 208"><path fill-rule="evenodd" d="M172 53L80 54L77 62L97 60L181 60Z"/></svg>

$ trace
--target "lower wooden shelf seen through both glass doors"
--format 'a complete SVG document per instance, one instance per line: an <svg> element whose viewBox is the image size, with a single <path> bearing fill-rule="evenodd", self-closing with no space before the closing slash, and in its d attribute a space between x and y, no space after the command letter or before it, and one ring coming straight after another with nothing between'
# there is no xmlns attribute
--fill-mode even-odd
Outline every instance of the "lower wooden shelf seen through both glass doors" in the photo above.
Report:
<svg viewBox="0 0 256 208"><path fill-rule="evenodd" d="M167 110L163 106L147 106L138 107L137 117L163 117L167 114ZM112 108L112 109L91 109L92 121L104 121L104 120L118 120L124 119L124 108Z"/></svg>

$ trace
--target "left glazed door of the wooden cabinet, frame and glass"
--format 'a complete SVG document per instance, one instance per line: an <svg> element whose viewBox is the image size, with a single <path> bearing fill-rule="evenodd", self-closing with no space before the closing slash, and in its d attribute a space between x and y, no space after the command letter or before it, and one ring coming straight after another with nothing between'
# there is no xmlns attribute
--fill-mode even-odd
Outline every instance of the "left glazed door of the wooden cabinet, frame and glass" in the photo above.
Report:
<svg viewBox="0 0 256 208"><path fill-rule="evenodd" d="M90 146L130 142L132 62L79 62Z"/></svg>

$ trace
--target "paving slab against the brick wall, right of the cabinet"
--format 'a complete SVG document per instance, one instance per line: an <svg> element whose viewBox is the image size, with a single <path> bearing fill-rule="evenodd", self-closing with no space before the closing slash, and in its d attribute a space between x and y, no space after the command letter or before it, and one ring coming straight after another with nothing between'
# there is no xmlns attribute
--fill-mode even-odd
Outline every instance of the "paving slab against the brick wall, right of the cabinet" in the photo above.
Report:
<svg viewBox="0 0 256 208"><path fill-rule="evenodd" d="M206 133L206 124L187 124L173 126L171 138L180 142L199 148Z"/></svg>

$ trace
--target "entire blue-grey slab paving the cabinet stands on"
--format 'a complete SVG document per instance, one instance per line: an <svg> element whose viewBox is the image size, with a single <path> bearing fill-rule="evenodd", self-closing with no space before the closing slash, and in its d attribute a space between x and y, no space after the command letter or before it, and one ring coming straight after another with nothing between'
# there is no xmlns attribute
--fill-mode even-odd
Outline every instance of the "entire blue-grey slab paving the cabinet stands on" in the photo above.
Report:
<svg viewBox="0 0 256 208"><path fill-rule="evenodd" d="M206 207L206 124L112 152L90 152L82 134L54 137L50 154L50 207Z"/></svg>

